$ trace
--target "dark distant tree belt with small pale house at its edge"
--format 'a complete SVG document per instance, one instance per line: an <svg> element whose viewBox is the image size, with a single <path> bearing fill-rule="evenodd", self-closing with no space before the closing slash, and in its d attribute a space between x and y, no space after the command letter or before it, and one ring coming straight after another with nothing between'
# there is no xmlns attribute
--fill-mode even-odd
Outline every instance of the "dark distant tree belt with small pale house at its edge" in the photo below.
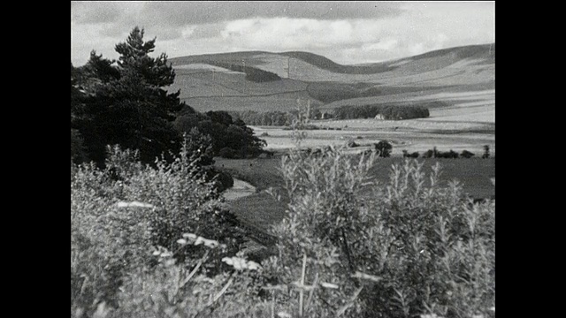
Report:
<svg viewBox="0 0 566 318"><path fill-rule="evenodd" d="M334 110L337 119L372 118L381 115L386 120L402 120L429 117L429 110L418 105L360 105L340 106Z"/></svg>

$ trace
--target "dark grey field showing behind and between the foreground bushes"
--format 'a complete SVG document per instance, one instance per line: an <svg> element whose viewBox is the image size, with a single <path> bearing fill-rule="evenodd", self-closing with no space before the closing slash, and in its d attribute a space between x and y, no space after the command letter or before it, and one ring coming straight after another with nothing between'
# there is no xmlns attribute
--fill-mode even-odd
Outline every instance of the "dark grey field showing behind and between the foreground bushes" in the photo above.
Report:
<svg viewBox="0 0 566 318"><path fill-rule="evenodd" d="M269 187L281 188L284 186L279 173L280 157L270 159L223 159L215 158L215 166L230 172L234 178L239 178L256 186L256 193L227 202L230 209L243 223L254 226L259 231L265 231L271 224L278 223L285 216L285 195L279 202L272 198L265 190ZM394 163L402 163L402 158L378 158L371 169L371 176L380 184L386 184ZM448 181L458 180L463 184L463 190L474 198L491 198L495 195L495 187L491 178L495 176L495 159L417 159L424 163L424 172L432 171L435 163L440 163L442 173L441 181L446 185ZM284 194L284 193L282 193Z"/></svg>

